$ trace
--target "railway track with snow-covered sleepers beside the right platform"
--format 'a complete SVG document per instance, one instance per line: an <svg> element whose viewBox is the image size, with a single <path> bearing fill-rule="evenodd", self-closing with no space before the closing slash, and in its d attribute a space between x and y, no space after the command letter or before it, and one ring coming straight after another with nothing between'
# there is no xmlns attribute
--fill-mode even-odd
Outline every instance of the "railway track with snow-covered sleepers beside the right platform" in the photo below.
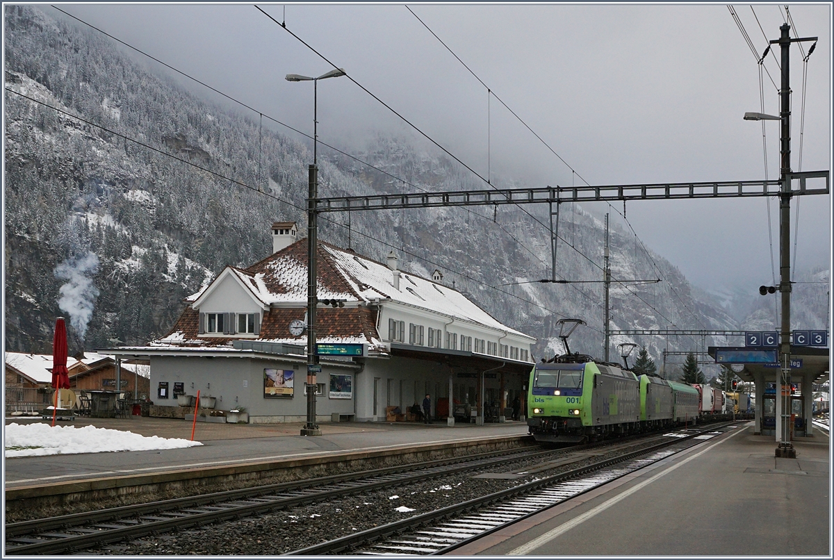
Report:
<svg viewBox="0 0 834 560"><path fill-rule="evenodd" d="M736 423L681 433L676 440L522 484L434 512L339 537L291 555L435 555L484 537L548 507L633 473L733 429Z"/></svg>

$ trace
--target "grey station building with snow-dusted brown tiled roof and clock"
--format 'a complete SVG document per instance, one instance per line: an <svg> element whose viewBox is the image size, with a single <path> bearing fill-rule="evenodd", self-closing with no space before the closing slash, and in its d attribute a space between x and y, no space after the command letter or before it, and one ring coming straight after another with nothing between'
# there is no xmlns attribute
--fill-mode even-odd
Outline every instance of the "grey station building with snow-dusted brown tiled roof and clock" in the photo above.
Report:
<svg viewBox="0 0 834 560"><path fill-rule="evenodd" d="M149 360L156 409L200 391L215 409L245 410L250 423L306 419L308 246L296 232L274 223L273 254L224 268L186 298L170 333L107 350ZM426 394L432 418L450 424L504 421L516 399L524 414L535 338L446 286L439 271L400 271L393 252L383 264L329 243L317 251L317 422L412 419Z"/></svg>

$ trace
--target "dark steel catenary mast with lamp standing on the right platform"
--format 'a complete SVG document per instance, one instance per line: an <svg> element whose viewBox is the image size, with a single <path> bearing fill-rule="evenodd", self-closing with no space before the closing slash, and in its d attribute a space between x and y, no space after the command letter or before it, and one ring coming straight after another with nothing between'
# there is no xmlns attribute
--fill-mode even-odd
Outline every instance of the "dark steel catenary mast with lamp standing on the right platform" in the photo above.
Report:
<svg viewBox="0 0 834 560"><path fill-rule="evenodd" d="M781 121L781 188L779 190L779 292L781 293L781 333L779 353L781 358L781 378L778 387L778 402L781 404L779 445L776 457L795 458L796 449L791 443L791 42L816 41L816 37L797 37L791 39L791 26L783 24L779 30L781 37L771 41L781 47L781 87L779 98L781 110L779 116L766 115L761 112L746 112L748 121ZM770 46L767 47L770 49ZM811 52L809 51L810 55ZM803 388L804 390L804 388Z"/></svg>

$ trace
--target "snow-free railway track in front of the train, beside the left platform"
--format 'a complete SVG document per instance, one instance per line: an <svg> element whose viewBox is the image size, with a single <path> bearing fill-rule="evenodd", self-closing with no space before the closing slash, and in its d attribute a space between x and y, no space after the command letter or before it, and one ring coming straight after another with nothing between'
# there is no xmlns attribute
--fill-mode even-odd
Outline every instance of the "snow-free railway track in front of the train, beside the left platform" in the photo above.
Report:
<svg viewBox="0 0 834 560"><path fill-rule="evenodd" d="M582 446L587 447L587 446ZM523 459L540 458L559 450L539 446L467 458L444 458L409 466L379 468L359 473L292 483L148 502L123 507L47 517L6 525L7 554L55 554L88 549L158 532L198 527L284 507L319 502L349 493L400 486L425 478L443 477L491 468Z"/></svg>

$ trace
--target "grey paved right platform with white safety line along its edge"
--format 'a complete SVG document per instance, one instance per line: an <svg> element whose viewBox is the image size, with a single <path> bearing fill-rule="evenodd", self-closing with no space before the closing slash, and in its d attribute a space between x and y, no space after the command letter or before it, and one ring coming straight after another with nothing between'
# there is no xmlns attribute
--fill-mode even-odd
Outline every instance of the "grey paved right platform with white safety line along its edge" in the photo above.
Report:
<svg viewBox="0 0 834 560"><path fill-rule="evenodd" d="M795 447L742 425L454 554L831 557L828 435Z"/></svg>

